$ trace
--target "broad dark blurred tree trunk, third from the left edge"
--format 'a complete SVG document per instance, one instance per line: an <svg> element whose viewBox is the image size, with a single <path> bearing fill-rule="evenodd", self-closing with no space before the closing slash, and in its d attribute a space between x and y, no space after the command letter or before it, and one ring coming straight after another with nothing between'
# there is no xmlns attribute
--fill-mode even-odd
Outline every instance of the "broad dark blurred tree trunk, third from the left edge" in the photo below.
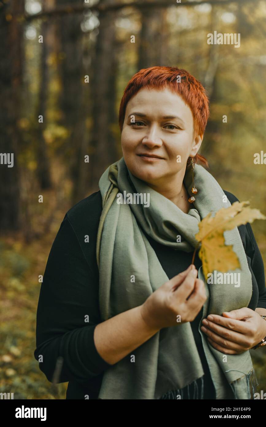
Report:
<svg viewBox="0 0 266 427"><path fill-rule="evenodd" d="M57 0L58 6L65 1ZM72 1L72 4L82 4L82 0ZM84 107L84 92L86 92L83 72L83 46L81 22L82 13L61 18L58 25L61 63L59 65L62 90L60 97L63 112L62 124L69 130L69 138L65 145L65 159L69 175L73 183L72 204L84 197L88 189L89 164L84 162L88 154L85 120L87 109ZM88 83L89 84L89 83Z"/></svg>

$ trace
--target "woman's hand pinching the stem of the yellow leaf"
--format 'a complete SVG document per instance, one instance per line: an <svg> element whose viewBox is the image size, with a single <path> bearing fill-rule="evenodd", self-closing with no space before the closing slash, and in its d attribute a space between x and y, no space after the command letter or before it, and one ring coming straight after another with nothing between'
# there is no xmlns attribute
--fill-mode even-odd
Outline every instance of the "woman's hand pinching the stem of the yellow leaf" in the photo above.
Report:
<svg viewBox="0 0 266 427"><path fill-rule="evenodd" d="M141 313L151 329L168 328L195 319L207 299L205 284L197 274L197 269L191 264L146 299L141 305ZM178 315L180 322L177 322Z"/></svg>

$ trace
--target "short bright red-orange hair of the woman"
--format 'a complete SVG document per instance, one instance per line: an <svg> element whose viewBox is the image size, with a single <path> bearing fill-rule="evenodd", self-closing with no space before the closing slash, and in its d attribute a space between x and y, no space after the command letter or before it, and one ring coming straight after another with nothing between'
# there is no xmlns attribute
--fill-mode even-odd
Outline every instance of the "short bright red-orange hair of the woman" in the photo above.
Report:
<svg viewBox="0 0 266 427"><path fill-rule="evenodd" d="M181 83L176 82L180 76ZM127 83L119 107L119 128L122 132L127 102L142 88L168 88L189 105L193 114L194 135L203 135L210 115L207 92L199 80L178 67L150 67L139 70ZM190 160L190 158L188 158ZM201 161L208 166L204 156L196 154L195 163Z"/></svg>

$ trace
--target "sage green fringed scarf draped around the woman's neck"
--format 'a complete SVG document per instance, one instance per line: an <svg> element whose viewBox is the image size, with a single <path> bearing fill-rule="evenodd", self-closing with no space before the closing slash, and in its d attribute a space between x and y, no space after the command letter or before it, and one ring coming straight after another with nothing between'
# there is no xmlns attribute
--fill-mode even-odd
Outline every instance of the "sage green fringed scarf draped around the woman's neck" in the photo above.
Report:
<svg viewBox="0 0 266 427"><path fill-rule="evenodd" d="M99 188L103 210L98 227L96 257L102 321L143 304L153 291L169 280L142 228L165 246L192 252L198 243L195 239L199 230L198 222L210 211L214 215L219 209L231 206L229 201L223 202L223 190L214 177L197 164L194 180L198 189L194 202L196 209L184 213L171 200L133 176L123 157L101 176ZM191 166L186 169L183 182L192 196ZM116 197L118 193L149 194L150 205L119 204ZM179 243L176 242L177 235L181 235ZM241 272L240 287L234 287L234 284L207 284L201 266L199 278L205 282L208 296L203 306L202 319L210 313L221 315L223 311L247 307L252 296L252 276L237 227L226 231L224 236L226 244L233 245L240 260L241 269L234 270ZM225 357L209 344L200 326L201 322L199 333L216 398L250 399L250 380L253 380L254 369L249 351L227 354ZM134 361L131 355L135 356ZM161 329L107 369L98 397L159 399L172 390L195 383L203 375L191 324L177 323L176 326Z"/></svg>

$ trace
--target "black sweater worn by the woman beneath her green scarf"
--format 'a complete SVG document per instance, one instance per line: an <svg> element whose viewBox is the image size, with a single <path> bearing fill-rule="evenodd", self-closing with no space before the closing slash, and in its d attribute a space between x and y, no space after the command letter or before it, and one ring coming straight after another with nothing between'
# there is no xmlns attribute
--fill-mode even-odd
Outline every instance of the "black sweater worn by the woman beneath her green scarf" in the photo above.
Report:
<svg viewBox="0 0 266 427"><path fill-rule="evenodd" d="M237 198L224 191L231 204ZM110 366L98 354L94 344L94 329L101 323L98 301L98 266L96 262L96 237L101 216L101 193L91 194L73 206L65 215L52 244L37 310L36 349L40 370L49 381L58 357L63 365L56 383L69 382L67 399L97 399L104 371ZM266 308L266 288L263 260L251 225L240 225L243 247L252 273L252 298L249 308ZM89 236L89 242L85 236ZM154 241L146 233L169 279L191 264L192 252L175 251ZM197 269L202 265L196 256ZM89 322L85 322L89 316ZM191 322L195 342L204 370L204 399L215 399L208 363L198 331L202 310ZM183 389L184 390L184 389ZM173 397L174 398L174 397ZM185 395L182 398L187 398Z"/></svg>

